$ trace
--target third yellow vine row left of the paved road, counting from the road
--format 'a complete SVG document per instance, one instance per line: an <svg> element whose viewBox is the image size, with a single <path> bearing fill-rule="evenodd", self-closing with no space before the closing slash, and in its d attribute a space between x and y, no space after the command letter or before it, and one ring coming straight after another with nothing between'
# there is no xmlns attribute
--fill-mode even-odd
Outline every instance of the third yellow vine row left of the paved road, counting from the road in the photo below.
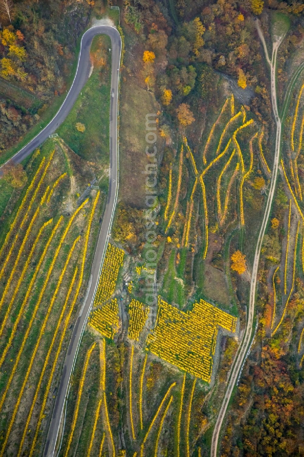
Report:
<svg viewBox="0 0 304 457"><path fill-rule="evenodd" d="M37 354L39 345L40 345L41 340L42 340L42 336L44 335L44 332L45 332L45 329L46 329L46 326L47 326L48 318L49 318L49 316L50 316L50 314L51 314L53 304L55 303L55 300L56 300L56 297L57 297L59 288L60 288L61 283L62 283L62 281L63 281L63 276L65 275L65 272L66 272L66 270L67 270L67 268L68 268L69 261L71 260L73 251L74 251L74 249L75 249L75 245L76 245L76 243L79 241L79 239L80 239L80 236L78 236L78 237L75 239L75 241L73 242L73 245L72 245L72 247L71 247L71 249L70 249L70 251L69 251L69 253L68 253L67 260L66 260L66 262L65 262L65 264L64 264L63 270L62 270L61 273L60 273L60 276L59 276L59 279L58 279L58 283L57 283L56 289L55 289L55 291L54 291L54 293L53 293L51 302L50 302L49 307L48 307L48 309L47 309L47 314L46 314L46 316L45 316L45 318L44 318L42 327L41 327L41 329L40 329L40 333L39 333L38 339L37 339L37 341L36 341L36 344L35 344L35 347L34 347L34 351L33 351L32 356L31 356L30 364L29 364L29 366L28 366L28 368L27 368L26 376L25 376L25 378L24 378L24 380L23 380L22 387L21 387L21 389L20 389L20 392L19 392L19 395L18 395L18 399L17 399L17 401L16 401L16 405L15 405L15 408L14 408L14 411L13 411L13 414L12 414L12 417L11 417L11 420L10 420L10 425L9 425L9 427L8 427L8 429L7 429L6 436L5 436L5 440L4 440L4 442L3 442L3 446L2 446L2 449L1 449L1 452L0 452L0 457L2 457L3 454L4 454L5 446L6 446L6 444L7 444L8 439L9 439L10 432L11 432L11 429L12 429L13 424L14 424L14 422L15 422L15 418L16 418L16 414L17 414L18 409L19 409L19 405L20 405L20 403L21 403L21 399L22 399L22 396L23 396L23 393L24 393L24 389L25 389L25 387L26 387L27 380L28 380L28 378L29 378L29 376L30 376L30 373L31 373L31 368L32 368L32 366L33 366L33 363L34 363L34 360L35 360L35 357L36 357L36 354ZM22 342L22 344L23 344L23 342ZM24 347L24 345L23 345L23 347ZM21 345L22 351L23 351L23 347L22 347L22 345ZM20 351L21 351L21 350L20 350ZM22 351L21 351L21 352L22 352ZM20 354L21 354L21 352L20 352ZM19 355L19 354L18 354L18 355ZM39 381L40 381L40 380L39 380ZM41 379L41 382L42 382L42 379ZM38 386L38 387L40 388L40 386ZM1 402L2 402L2 399L1 399Z"/></svg>

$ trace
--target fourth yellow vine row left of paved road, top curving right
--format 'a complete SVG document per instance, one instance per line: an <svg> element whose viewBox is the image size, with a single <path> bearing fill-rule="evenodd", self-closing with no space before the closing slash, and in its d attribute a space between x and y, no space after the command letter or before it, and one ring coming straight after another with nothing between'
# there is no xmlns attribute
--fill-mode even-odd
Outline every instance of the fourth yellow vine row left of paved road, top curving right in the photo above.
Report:
<svg viewBox="0 0 304 457"><path fill-rule="evenodd" d="M0 401L0 410L2 409L3 402L4 402L4 400L5 400L5 397L6 397L7 392L8 392L8 390L9 390L10 383L11 383L11 381L12 381L12 378L13 378L13 376L14 376L14 373L16 372L17 365L18 365L18 362L19 362L19 360L20 360L20 357L21 357L21 354L22 354L22 351L23 351L23 347L24 347L24 345L25 345L25 343L26 343L26 340L27 340L27 338L28 338L28 335L29 335L29 333L30 333L31 326L32 326L32 324L33 324L33 322L34 322L34 319L35 319L35 317L36 317L36 314L37 314L38 308L39 308L39 306L40 306L40 303L41 303L41 301L42 301L42 297L43 297L43 295L44 295L44 292L45 292L45 290L46 290L46 288L47 288L47 284L48 284L49 278L50 278L50 276L51 276L51 274L52 274L52 270L53 270L53 268L54 268L54 266L55 266L55 263L56 263L56 260L57 260L59 251L60 251L60 249L61 249L61 246L62 246L62 244L63 244L63 241L64 241L64 239L66 238L66 235L68 234L68 230L69 230L70 226L72 225L74 218L75 218L76 215L79 213L79 211L82 209L82 207L84 207L84 204L86 204L88 200L89 200L89 199L85 200L85 201L82 203L82 205L80 205L80 206L77 208L77 210L73 213L73 216L70 218L70 220L69 220L69 222L68 222L68 225L67 225L66 229L64 230L64 233L63 233L63 235L62 235L62 237L61 237L61 239L60 239L60 241L59 241L58 247L57 247L57 249L55 250L55 253L54 253L53 258L52 258L52 263L51 263L51 265L49 266L49 269L48 269L48 271L47 271L47 277L46 277L46 279L45 279L45 281L44 281L44 284L43 284L43 286L42 286L42 290L41 290L41 292L40 292L40 294L39 294L39 297L38 297L36 306L35 306L35 308L34 308L34 311L33 311L32 315L31 315L30 323L28 324L28 327L27 327L27 329L26 329L26 333L25 333L25 335L24 335L24 338L23 338L23 341L22 341L22 344L21 344L21 348L20 348L20 350L19 350L19 352L18 352L18 355L17 355L17 357L16 357L15 365L14 365L13 370L12 370L12 372L11 372L9 381L8 381L8 383L7 383L7 385L6 385L5 392L4 392L4 394L3 394L2 398L1 398L1 401ZM0 366L1 366L2 362L3 362L3 360L4 360L4 358L3 358L3 355L2 355L2 356L1 356L1 360L0 360ZM1 454L0 454L0 456L1 456Z"/></svg>

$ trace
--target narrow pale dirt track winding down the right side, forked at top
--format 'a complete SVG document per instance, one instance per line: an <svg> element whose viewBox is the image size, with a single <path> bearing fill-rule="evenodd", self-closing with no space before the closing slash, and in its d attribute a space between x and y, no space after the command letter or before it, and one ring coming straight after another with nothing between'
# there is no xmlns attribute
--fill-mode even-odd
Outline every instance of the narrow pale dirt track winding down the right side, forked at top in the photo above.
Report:
<svg viewBox="0 0 304 457"><path fill-rule="evenodd" d="M267 221L268 221L268 218L270 215L270 210L271 210L271 205L273 202L273 196L274 196L277 175L278 175L278 164L279 164L280 142L281 142L281 119L278 115L275 72L276 72L276 60L277 60L278 48L279 48L280 44L282 43L282 40L284 37L281 37L277 41L273 42L273 53L272 53L272 59L270 60L269 56L268 56L268 52L267 52L266 43L265 43L265 40L264 40L264 37L262 34L262 30L261 30L260 24L257 20L256 20L256 26L257 26L258 34L259 34L262 44L263 44L267 63L270 64L271 100L272 100L272 107L273 107L273 116L274 116L275 122L277 124L276 143L275 143L275 152L274 152L274 160L273 160L273 173L272 173L272 177L271 177L271 183L270 183L270 189L269 189L269 193L268 193L265 213L264 213L264 217L262 220L260 233L259 233L259 236L257 239L257 247L256 247L256 252L255 252L253 266L252 266L249 311L248 311L248 320L247 320L247 325L246 325L246 331L245 331L244 337L241 341L241 344L239 346L239 349L236 353L236 358L235 358L235 361L234 361L232 369L231 369L231 375L230 375L229 381L227 383L225 395L224 395L222 404L220 406L220 411L219 411L219 415L218 415L216 423L215 423L215 428L213 430L212 441L211 441L211 457L217 456L217 446L218 446L218 441L219 441L219 436L220 436L220 429L221 429L221 426L222 426L222 423L223 423L223 420L225 417L225 413L226 413L226 410L227 410L227 407L228 407L228 404L229 404L229 401L231 398L231 393L236 384L236 380L238 378L243 361L244 361L244 359L246 357L246 353L248 351L248 347L251 342L252 324L253 324L253 318L254 318L255 293L256 293L256 287L257 287L258 264L259 264L260 252L261 252L261 247L262 247L262 241L263 241L263 237L265 234Z"/></svg>

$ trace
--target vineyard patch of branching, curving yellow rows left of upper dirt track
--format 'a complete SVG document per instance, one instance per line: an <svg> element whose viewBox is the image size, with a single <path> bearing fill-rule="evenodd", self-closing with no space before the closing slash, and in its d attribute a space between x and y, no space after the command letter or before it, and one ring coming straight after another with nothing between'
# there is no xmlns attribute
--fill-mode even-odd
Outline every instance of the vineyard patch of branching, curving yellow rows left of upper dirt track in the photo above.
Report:
<svg viewBox="0 0 304 457"><path fill-rule="evenodd" d="M193 246L195 244L194 227L198 223L195 215L201 200L204 216L199 230L202 232L203 259L206 258L208 252L210 225L225 230L227 224L235 221L233 213L234 207L237 207L238 220L241 226L244 226L246 223L244 214L246 181L251 184L250 179L255 175L260 164L265 168L266 176L269 173L262 149L264 127L258 135L258 126L252 118L247 119L244 106L241 106L237 112L235 110L236 104L232 95L226 99L220 114L210 128L202 156L200 157L196 152L196 157L194 157L187 138L183 137L178 168L173 163L169 169L168 198L164 212L165 234L168 233L171 237L172 234L180 236L180 244L183 247ZM258 141L255 141L257 138ZM260 158L255 153L257 148L260 151ZM186 202L183 202L184 197L181 198L184 151L185 157L189 159L189 173L193 176L193 179L189 181L192 184L188 188L189 198L186 199ZM212 204L214 190L216 211ZM176 215L181 217L180 212L184 211L182 208L185 208L183 213L185 223L179 227ZM179 235L180 230L182 230L182 235Z"/></svg>

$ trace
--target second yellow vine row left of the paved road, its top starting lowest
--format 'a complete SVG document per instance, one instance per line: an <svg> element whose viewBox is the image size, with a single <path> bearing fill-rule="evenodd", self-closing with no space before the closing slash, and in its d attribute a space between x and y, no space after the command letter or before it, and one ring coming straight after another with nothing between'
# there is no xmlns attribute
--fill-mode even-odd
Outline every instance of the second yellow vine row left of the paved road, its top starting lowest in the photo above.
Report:
<svg viewBox="0 0 304 457"><path fill-rule="evenodd" d="M25 438L26 438L27 429L28 429L28 426L29 426L30 421L31 421L31 415L33 414L33 410L34 410L34 407L35 407L35 404L36 404L36 401L37 401L38 393L39 393L39 390L41 388L43 376L44 376L44 373L45 373L45 371L47 369L47 363L48 363L48 361L50 359L52 348L53 348L53 346L55 344L55 341L56 341L56 338L57 338L57 335L58 335L58 331L59 331L61 322L63 320L63 315L64 315L65 310L67 308L68 300L70 298L70 295L71 295L71 292L72 292L72 289L73 289L73 285L74 285L74 282L76 280L77 270L78 270L78 268L76 267L75 271L74 271L74 274L73 274L72 281L71 281L70 286L68 288L68 293L67 293L67 296L66 296L66 299L65 299L65 302L64 302L60 317L58 319L58 323L57 323L56 329L55 329L53 337L52 337L51 345L49 346L49 349L47 351L47 356L45 358L45 361L44 361L44 364L43 364L43 367L42 367L42 372L41 372L41 375L40 375L40 378L39 378L39 382L37 384L37 388L36 388L36 392L35 392L35 395L34 395L34 399L33 399L32 403L31 403L30 412L29 412L29 414L27 416L26 425L25 425L24 430L23 430L23 435L22 435L22 438L21 438L21 443L20 443L20 446L19 446L19 451L18 451L17 457L20 457L21 452L22 452L22 447L23 447L23 444L24 444L24 441L25 441ZM70 314L71 314L72 310L73 310L73 307L70 307L70 312L68 313L68 318L66 319L66 323L65 323L64 329L63 329L63 333L62 333L61 338L60 338L60 343L59 343L60 349L61 349L61 344L62 344L61 340L63 340L63 338L64 338L65 329L66 329L66 326L68 325ZM59 353L57 352L57 354L55 356L55 360L53 362L53 367L56 367L58 356L59 356ZM52 372L51 372L51 374L52 374ZM51 379L52 379L52 377L51 377ZM48 393L48 390L47 390L47 393Z"/></svg>

